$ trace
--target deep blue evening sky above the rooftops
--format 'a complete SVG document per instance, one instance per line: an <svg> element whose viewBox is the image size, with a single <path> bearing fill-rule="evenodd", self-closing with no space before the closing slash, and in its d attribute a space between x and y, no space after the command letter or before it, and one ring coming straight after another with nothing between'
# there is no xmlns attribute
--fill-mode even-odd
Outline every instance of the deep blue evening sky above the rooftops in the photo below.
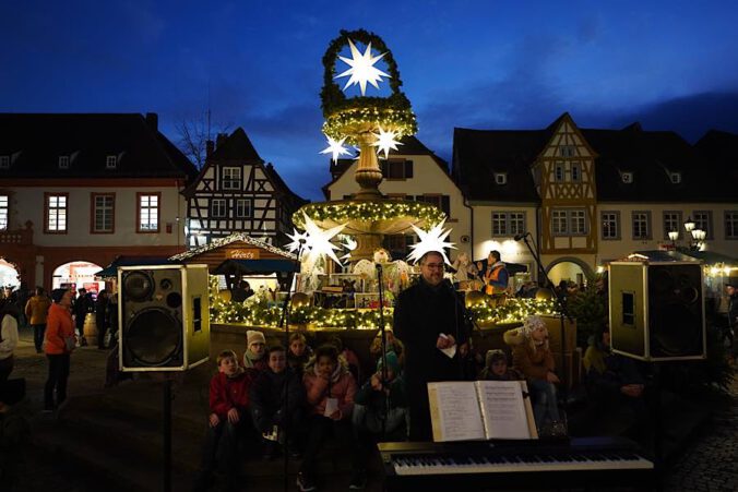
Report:
<svg viewBox="0 0 738 492"><path fill-rule="evenodd" d="M299 194L321 200L322 56L364 27L392 50L418 137L454 127L738 132L734 1L3 1L0 111L159 113L210 107ZM343 70L343 63L338 69Z"/></svg>

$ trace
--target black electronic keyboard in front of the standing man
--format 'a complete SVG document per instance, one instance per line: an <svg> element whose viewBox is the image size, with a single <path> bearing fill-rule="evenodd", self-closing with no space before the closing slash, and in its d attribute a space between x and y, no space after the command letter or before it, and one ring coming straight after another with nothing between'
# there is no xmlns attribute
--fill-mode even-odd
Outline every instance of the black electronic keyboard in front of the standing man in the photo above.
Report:
<svg viewBox="0 0 738 492"><path fill-rule="evenodd" d="M655 490L654 463L620 437L379 443L388 491Z"/></svg>

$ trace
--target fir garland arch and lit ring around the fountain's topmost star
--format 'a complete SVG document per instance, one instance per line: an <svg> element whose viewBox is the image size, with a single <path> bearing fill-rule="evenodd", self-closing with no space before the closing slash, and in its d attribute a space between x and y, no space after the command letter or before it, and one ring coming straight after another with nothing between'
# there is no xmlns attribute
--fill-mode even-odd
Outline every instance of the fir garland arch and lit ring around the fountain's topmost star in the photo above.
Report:
<svg viewBox="0 0 738 492"><path fill-rule="evenodd" d="M341 87L334 82L335 63L341 50L347 45L348 39L359 41L365 45L372 45L372 48L384 53L382 60L386 63L390 79L388 80L392 94L389 97L367 97L357 96L347 98ZM365 29L341 31L341 36L333 39L323 56L323 88L320 92L321 107L323 109L323 133L328 136L346 141L352 145L358 145L356 130L362 129L367 123L373 123L374 127L392 129L397 139L406 135L414 135L417 130L417 121L410 101L404 93L400 91L402 81L397 63L379 36Z"/></svg>

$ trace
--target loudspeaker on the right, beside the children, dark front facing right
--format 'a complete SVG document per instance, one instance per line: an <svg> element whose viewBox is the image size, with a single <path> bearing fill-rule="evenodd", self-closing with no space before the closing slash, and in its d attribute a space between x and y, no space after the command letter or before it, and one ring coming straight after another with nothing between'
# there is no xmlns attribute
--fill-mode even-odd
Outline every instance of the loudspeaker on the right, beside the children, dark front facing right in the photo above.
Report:
<svg viewBox="0 0 738 492"><path fill-rule="evenodd" d="M706 358L700 262L610 263L612 351L647 361Z"/></svg>

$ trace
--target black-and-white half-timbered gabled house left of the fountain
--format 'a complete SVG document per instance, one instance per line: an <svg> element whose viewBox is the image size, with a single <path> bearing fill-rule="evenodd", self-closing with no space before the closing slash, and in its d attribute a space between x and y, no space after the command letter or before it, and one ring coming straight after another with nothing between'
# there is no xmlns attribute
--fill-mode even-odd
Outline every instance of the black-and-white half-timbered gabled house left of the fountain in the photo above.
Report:
<svg viewBox="0 0 738 492"><path fill-rule="evenodd" d="M207 147L205 166L186 191L188 245L234 232L284 243L293 213L307 202L259 156L241 128Z"/></svg>

